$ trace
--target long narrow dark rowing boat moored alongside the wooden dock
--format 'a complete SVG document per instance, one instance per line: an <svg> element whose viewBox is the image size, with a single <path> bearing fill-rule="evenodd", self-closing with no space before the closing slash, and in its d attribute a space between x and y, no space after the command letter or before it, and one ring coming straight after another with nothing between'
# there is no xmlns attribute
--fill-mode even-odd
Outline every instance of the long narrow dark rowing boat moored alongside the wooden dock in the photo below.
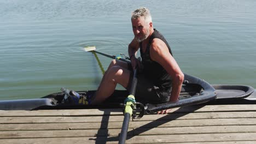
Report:
<svg viewBox="0 0 256 144"><path fill-rule="evenodd" d="M79 95L93 95L95 90L78 91ZM127 97L125 90L115 90L101 105L82 105L63 103L65 92L57 92L39 99L0 100L0 110L42 110L42 109L103 109L120 108ZM163 109L196 104L256 104L256 92L251 86L243 85L210 85L210 83L185 74L179 100L175 103L152 104L138 101L144 114L152 114Z"/></svg>

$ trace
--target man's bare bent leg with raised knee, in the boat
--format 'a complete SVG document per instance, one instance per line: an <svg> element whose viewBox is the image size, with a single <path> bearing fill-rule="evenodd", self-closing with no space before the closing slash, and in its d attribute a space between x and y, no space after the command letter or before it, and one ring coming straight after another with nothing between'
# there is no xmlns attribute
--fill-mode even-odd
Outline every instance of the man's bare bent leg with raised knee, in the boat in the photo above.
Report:
<svg viewBox="0 0 256 144"><path fill-rule="evenodd" d="M131 71L127 69L127 63L113 60L105 72L91 104L100 104L107 99L115 90L117 83L127 87Z"/></svg>

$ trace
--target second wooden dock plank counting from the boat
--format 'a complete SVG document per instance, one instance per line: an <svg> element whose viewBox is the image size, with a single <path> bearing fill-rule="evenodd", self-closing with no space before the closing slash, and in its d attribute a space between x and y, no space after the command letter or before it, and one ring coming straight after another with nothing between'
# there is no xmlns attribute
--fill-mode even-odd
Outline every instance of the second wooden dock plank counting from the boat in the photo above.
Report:
<svg viewBox="0 0 256 144"><path fill-rule="evenodd" d="M165 121L174 119L216 119L216 118L256 118L256 112L196 112L170 113L168 115L145 115L134 121ZM122 116L59 116L59 117L1 117L0 124L11 123L71 123L71 122L123 122Z"/></svg>

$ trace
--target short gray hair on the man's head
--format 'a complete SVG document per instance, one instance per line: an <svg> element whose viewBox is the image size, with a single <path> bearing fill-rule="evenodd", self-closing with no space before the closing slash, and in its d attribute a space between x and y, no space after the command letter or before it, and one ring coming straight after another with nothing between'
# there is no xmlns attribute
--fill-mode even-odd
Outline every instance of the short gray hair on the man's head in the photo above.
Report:
<svg viewBox="0 0 256 144"><path fill-rule="evenodd" d="M147 8L139 8L132 12L131 20L138 19L139 17L144 17L145 22L149 23L152 22L152 17L150 15L150 11Z"/></svg>

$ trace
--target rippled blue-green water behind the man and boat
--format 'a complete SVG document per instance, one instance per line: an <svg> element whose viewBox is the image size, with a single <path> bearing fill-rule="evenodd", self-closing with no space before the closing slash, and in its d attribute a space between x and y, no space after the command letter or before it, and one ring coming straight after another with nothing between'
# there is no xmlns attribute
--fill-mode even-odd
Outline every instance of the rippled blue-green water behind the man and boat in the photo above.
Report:
<svg viewBox="0 0 256 144"><path fill-rule="evenodd" d="M84 46L127 54L130 14L148 7L184 73L256 87L255 1L0 1L0 99L96 89ZM109 58L99 56L106 69Z"/></svg>

